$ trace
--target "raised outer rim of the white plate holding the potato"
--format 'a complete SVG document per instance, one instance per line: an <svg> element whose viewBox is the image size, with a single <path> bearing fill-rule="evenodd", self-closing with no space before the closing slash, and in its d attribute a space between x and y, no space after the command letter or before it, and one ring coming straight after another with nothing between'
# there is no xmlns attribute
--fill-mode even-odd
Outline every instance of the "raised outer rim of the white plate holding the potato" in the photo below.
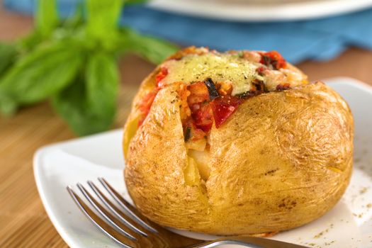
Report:
<svg viewBox="0 0 372 248"><path fill-rule="evenodd" d="M355 79L349 79L349 78L345 78L345 77L338 77L338 78L332 78L332 79L325 79L324 81L327 81L327 83L330 83L330 84L350 85L350 86L359 88L362 91L365 91L368 94L371 94L371 96L372 96L372 87L369 86L368 84L364 84L363 82L357 81ZM78 138L78 139L69 140L69 141L66 141L66 142L59 142L59 143L55 143L53 145L47 145L45 147L40 147L40 149L38 149L38 151L35 152L35 156L34 156L34 159L33 159L33 169L34 169L35 181L36 181L36 185L37 185L37 188L38 188L38 191L39 191L39 194L40 194L40 198L43 202L43 205L45 207L47 215L49 216L50 220L52 221L52 224L55 226L57 232L59 232L62 239L64 239L64 241L70 247L81 247L81 246L79 246L79 244L77 244L77 242L75 240L76 237L72 237L72 235L69 235L66 228L64 228L64 226L61 224L61 222L57 219L57 217L54 213L54 210L52 209L52 203L50 203L50 201L48 201L48 199L47 199L46 195L47 195L47 186L48 185L45 183L45 178L44 178L45 175L43 175L43 167L42 167L41 158L43 157L43 154L48 152L48 150L52 147L57 147L59 145L69 145L69 143L73 143L76 140L91 139L92 137L98 138L100 136L108 135L108 134L119 135L121 132L122 132L121 130L113 130L113 131L106 132L106 133L101 133L101 134L98 134L98 135L92 135L92 136L89 136L89 137ZM176 232L179 232L179 231L176 231ZM188 235L184 231L181 231L181 233L183 235ZM193 234L191 236L195 237L196 235Z"/></svg>

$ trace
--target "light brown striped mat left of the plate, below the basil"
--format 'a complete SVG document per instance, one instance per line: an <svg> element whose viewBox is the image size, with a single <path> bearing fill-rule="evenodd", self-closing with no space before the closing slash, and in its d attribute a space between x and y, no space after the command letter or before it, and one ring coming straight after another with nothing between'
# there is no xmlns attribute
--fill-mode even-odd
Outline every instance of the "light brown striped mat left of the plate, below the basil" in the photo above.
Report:
<svg viewBox="0 0 372 248"><path fill-rule="evenodd" d="M115 128L123 125L137 86L123 86ZM0 119L0 247L67 247L48 220L33 179L38 147L74 137L47 103Z"/></svg>

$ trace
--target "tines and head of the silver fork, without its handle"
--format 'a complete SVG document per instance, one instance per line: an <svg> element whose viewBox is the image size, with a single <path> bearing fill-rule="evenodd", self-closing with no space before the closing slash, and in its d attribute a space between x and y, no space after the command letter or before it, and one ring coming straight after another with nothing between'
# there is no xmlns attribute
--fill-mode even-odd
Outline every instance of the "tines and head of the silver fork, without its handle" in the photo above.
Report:
<svg viewBox="0 0 372 248"><path fill-rule="evenodd" d="M84 215L99 230L123 247L163 247L166 242L158 235L158 231L149 225L146 218L105 179L98 178L98 181L113 200L110 200L92 181L88 181L87 184L97 198L94 198L83 185L77 184L77 188L92 208L84 203L71 186L67 186L67 191Z"/></svg>

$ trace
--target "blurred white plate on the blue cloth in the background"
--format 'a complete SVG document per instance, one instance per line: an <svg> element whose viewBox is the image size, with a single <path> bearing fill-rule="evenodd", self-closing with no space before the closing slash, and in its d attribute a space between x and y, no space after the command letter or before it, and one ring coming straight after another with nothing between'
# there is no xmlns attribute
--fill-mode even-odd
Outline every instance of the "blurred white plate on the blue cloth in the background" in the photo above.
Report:
<svg viewBox="0 0 372 248"><path fill-rule="evenodd" d="M372 6L371 0L152 0L155 9L231 21L289 21L333 16Z"/></svg>

